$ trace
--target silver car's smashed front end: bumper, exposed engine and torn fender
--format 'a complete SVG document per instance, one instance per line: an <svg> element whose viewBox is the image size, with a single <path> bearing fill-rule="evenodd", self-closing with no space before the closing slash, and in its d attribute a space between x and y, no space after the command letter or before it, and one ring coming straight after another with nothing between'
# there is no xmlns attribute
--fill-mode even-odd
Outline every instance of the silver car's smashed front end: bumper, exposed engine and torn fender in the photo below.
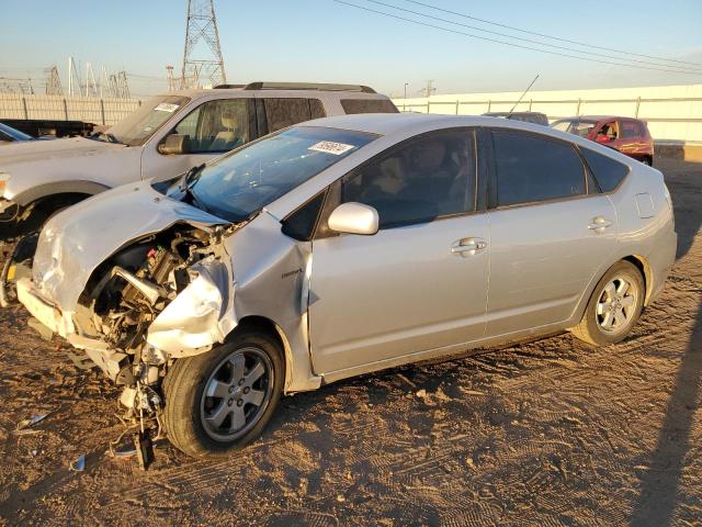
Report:
<svg viewBox="0 0 702 527"><path fill-rule="evenodd" d="M220 319L231 283L224 232L177 225L129 244L92 272L72 313L26 279L20 300L125 386L121 402L133 416L155 413L169 361L208 350L234 327Z"/></svg>

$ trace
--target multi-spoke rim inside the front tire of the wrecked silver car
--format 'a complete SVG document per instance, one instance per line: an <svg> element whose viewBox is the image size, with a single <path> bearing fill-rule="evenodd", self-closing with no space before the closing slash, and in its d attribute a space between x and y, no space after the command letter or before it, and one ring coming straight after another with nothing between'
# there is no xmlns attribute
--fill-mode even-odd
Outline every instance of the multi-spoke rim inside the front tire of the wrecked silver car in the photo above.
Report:
<svg viewBox="0 0 702 527"><path fill-rule="evenodd" d="M231 441L259 422L271 400L273 366L258 348L226 357L205 383L200 404L203 428L218 441Z"/></svg>

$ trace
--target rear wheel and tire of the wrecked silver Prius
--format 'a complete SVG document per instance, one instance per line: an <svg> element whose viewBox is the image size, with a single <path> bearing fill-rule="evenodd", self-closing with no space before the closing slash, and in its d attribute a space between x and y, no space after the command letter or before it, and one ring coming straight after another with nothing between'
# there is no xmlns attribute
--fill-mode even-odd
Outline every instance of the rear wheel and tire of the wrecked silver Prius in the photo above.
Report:
<svg viewBox="0 0 702 527"><path fill-rule="evenodd" d="M619 261L598 282L582 319L570 332L596 346L619 343L626 338L641 316L645 295L641 271L629 261Z"/></svg>

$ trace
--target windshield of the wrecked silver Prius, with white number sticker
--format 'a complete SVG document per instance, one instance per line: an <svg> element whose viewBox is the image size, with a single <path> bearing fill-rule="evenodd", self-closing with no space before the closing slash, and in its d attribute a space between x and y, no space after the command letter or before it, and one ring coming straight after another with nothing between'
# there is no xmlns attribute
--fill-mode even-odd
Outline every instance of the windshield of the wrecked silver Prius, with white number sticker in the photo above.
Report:
<svg viewBox="0 0 702 527"><path fill-rule="evenodd" d="M294 126L220 157L192 176L190 186L177 180L167 192L186 192L194 205L239 222L375 138L364 132Z"/></svg>

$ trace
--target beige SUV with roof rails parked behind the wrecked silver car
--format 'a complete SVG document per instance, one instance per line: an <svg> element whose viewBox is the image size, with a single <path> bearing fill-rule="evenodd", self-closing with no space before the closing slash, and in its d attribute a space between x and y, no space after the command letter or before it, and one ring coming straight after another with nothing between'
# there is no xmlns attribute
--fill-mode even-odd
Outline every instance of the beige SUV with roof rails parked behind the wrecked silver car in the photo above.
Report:
<svg viewBox="0 0 702 527"><path fill-rule="evenodd" d="M91 138L0 150L0 222L12 235L131 181L182 173L257 137L310 119L397 112L364 86L252 82L154 97ZM26 229L26 228L25 228Z"/></svg>

